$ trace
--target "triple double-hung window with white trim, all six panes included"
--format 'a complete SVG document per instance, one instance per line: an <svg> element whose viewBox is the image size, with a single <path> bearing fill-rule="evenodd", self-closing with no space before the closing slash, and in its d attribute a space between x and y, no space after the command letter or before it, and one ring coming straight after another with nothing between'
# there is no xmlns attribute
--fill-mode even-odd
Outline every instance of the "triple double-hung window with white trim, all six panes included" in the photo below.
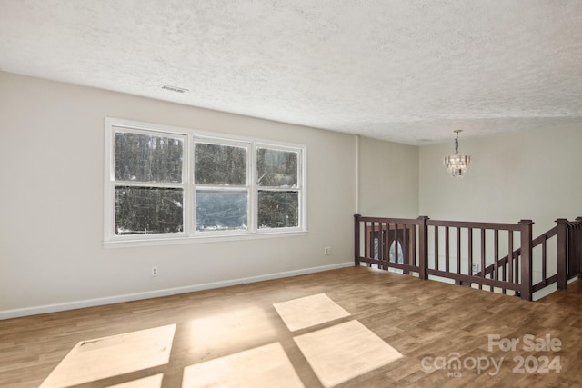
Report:
<svg viewBox="0 0 582 388"><path fill-rule="evenodd" d="M306 231L306 146L105 120L105 243Z"/></svg>

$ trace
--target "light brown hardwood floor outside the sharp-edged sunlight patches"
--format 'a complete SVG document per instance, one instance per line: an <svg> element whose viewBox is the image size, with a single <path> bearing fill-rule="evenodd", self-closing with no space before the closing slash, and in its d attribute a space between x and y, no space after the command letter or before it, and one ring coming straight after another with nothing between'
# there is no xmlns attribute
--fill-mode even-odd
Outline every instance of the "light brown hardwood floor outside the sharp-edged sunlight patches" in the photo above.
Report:
<svg viewBox="0 0 582 388"><path fill-rule="evenodd" d="M349 315L291 332L273 306L320 293ZM181 387L192 365L280 343L301 383L322 387L294 338L357 321L402 356L338 387L577 387L582 386L581 307L580 281L526 302L352 267L0 321L0 386L39 386L81 341L176 324L168 363L76 386L105 387L163 373L164 388ZM516 349L490 343L489 335L496 334L502 344L517 341ZM559 350L556 340L554 350L527 348L527 340L541 345L548 337L559 340ZM554 363L545 365L546 358ZM353 368L359 361L355 357L339 367ZM460 368L453 369L456 361ZM501 363L498 372L492 363ZM545 366L548 373L542 373Z"/></svg>

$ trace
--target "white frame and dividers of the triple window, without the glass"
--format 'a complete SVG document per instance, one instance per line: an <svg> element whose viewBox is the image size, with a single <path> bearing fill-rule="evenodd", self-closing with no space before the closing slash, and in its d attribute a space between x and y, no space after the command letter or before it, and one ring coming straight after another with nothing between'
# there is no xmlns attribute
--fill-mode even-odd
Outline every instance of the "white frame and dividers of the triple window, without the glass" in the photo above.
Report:
<svg viewBox="0 0 582 388"><path fill-rule="evenodd" d="M131 184L115 181L115 130L125 132L153 134L184 139L182 183L181 184ZM247 147L246 187L249 198L247 204L248 225L246 230L196 231L196 184L194 182L194 147L196 143L235 145ZM299 214L296 227L259 228L258 192L265 190L256 183L256 152L258 148L278 151L296 152L297 187L281 188L283 191L298 192ZM307 233L306 202L306 160L305 144L291 144L265 139L250 138L233 134L217 134L192 128L176 127L164 124L150 124L114 117L105 117L105 179L104 179L104 245L141 246L155 244L190 244L210 241L246 240L254 238L286 237ZM182 187L184 190L184 231L175 234L115 234L115 186L137 185L152 187ZM213 186L220 190L225 187ZM209 186L205 186L206 189ZM228 189L230 190L230 189ZM279 190L279 189L277 189Z"/></svg>

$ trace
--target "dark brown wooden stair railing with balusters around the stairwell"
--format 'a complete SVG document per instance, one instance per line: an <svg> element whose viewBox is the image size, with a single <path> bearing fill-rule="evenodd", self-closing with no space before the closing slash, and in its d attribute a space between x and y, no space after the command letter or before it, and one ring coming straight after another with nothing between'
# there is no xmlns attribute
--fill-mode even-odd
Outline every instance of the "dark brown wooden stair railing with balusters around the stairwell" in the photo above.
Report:
<svg viewBox="0 0 582 388"><path fill-rule="evenodd" d="M497 224L436 221L426 216L354 217L356 265L396 268L421 279L439 276L455 284L513 292L527 300L550 284L557 283L562 289L568 280L582 276L582 217L573 222L558 219L557 226L535 239L531 220ZM548 276L548 241L554 237L557 254L552 258L557 263L551 264L557 264L557 274ZM507 244L503 249L502 241ZM516 249L514 245L518 245ZM534 256L534 249L539 246ZM504 250L511 254L501 254ZM541 268L541 281L537 284L532 284L534 263ZM480 266L480 271L473 270L474 264Z"/></svg>

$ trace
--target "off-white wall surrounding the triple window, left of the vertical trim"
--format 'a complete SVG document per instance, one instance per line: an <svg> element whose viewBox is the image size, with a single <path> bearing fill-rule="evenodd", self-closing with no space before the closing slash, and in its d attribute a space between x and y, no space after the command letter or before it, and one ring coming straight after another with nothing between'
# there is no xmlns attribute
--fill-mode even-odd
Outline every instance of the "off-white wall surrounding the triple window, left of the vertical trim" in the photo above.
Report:
<svg viewBox="0 0 582 388"><path fill-rule="evenodd" d="M104 248L105 116L306 144L308 234ZM0 118L0 318L352 263L353 135L2 72Z"/></svg>

